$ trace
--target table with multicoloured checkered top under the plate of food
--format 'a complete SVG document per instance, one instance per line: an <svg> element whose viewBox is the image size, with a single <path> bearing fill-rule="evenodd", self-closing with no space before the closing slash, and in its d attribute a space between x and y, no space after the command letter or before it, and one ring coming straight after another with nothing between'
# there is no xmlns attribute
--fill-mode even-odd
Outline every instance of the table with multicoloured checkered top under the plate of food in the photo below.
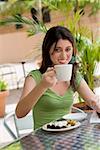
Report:
<svg viewBox="0 0 100 150"><path fill-rule="evenodd" d="M79 128L70 131L38 129L3 150L100 150L100 124L90 124L89 118L90 114Z"/></svg>

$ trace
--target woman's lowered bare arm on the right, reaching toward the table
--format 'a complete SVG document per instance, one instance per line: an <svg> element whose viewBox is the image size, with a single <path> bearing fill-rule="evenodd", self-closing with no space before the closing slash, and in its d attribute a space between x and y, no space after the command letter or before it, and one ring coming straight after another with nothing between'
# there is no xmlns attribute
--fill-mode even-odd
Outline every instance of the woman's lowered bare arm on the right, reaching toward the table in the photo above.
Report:
<svg viewBox="0 0 100 150"><path fill-rule="evenodd" d="M91 108L100 113L100 96L93 93L84 79L82 79L77 91Z"/></svg>

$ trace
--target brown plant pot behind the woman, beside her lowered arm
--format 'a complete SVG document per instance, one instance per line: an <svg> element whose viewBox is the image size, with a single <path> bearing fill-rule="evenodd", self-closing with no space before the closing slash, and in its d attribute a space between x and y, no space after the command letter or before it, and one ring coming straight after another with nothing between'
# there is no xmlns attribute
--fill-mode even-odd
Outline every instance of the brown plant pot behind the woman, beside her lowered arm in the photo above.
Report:
<svg viewBox="0 0 100 150"><path fill-rule="evenodd" d="M84 112L93 112L93 109L89 107L86 102L75 103L73 106L83 110Z"/></svg>

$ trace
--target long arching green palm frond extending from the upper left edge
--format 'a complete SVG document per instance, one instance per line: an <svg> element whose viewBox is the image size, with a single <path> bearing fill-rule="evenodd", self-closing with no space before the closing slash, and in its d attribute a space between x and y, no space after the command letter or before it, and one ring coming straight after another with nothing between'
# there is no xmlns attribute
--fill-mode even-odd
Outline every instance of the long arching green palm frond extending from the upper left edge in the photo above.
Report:
<svg viewBox="0 0 100 150"><path fill-rule="evenodd" d="M2 19L0 20L0 26L4 26L4 25L15 25L15 24L22 24L24 26L26 26L28 35L34 35L37 32L47 32L47 27L45 26L45 24L43 24L43 22L39 21L38 23L31 19L31 18L27 18L27 17L22 17L19 15L13 15L9 18L6 19Z"/></svg>

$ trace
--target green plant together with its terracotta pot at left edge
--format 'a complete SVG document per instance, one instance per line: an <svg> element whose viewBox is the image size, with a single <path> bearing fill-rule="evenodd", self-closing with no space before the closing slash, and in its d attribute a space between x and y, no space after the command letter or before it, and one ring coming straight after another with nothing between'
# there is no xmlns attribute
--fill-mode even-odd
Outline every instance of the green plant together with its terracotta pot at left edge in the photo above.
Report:
<svg viewBox="0 0 100 150"><path fill-rule="evenodd" d="M5 115L6 97L9 95L7 87L8 84L5 81L0 80L0 117L4 117Z"/></svg>

